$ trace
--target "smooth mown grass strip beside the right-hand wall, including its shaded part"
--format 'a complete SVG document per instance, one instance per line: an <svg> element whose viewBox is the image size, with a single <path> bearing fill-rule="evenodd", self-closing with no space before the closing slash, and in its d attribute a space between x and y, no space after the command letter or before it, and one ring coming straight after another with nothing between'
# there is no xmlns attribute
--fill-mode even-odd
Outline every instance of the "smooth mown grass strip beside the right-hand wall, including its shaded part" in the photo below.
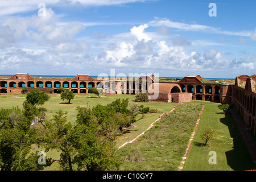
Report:
<svg viewBox="0 0 256 182"><path fill-rule="evenodd" d="M193 101L200 103L200 101ZM204 102L205 107L192 146L189 150L184 171L233 171L255 169L236 122L230 112L225 115L217 103ZM216 136L207 146L200 139L203 127L209 125L216 129ZM233 127L235 126L235 127ZM209 164L210 151L216 152L217 164Z"/></svg>

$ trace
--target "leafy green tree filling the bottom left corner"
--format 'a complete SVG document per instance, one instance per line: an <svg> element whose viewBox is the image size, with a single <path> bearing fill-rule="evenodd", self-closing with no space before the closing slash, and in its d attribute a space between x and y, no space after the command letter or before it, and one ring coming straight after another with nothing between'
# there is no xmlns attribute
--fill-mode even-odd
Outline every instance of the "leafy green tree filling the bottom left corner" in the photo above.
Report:
<svg viewBox="0 0 256 182"><path fill-rule="evenodd" d="M35 171L45 166L38 163L38 151L32 144L39 144L38 130L18 107L0 110L0 170ZM51 159L47 159L47 164Z"/></svg>

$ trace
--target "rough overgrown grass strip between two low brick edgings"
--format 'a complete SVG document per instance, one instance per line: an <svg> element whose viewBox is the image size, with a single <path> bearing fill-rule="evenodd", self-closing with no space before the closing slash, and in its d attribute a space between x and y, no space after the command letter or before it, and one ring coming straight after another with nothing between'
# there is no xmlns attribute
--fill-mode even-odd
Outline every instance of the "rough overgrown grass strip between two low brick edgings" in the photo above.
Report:
<svg viewBox="0 0 256 182"><path fill-rule="evenodd" d="M183 103L155 126L118 150L120 170L177 171L193 133L202 104Z"/></svg>

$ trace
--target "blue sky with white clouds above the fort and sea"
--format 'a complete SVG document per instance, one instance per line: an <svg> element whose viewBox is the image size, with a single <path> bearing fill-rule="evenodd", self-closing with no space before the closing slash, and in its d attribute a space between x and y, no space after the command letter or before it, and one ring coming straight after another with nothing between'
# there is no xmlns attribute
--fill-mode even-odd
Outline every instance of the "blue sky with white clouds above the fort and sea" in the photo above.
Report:
<svg viewBox="0 0 256 182"><path fill-rule="evenodd" d="M1 0L0 75L251 76L255 7L249 0Z"/></svg>

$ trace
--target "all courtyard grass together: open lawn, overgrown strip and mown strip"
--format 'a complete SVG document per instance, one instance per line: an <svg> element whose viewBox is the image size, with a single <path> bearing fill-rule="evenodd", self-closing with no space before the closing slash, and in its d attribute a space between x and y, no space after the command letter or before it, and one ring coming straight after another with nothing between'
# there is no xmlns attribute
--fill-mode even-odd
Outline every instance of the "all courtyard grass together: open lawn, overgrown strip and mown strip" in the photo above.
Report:
<svg viewBox="0 0 256 182"><path fill-rule="evenodd" d="M146 130L152 122L158 119L160 114L172 110L175 105L174 103L164 102L134 102L134 95L126 94L113 95L109 97L106 97L105 94L100 94L100 96L102 96L101 98L98 98L95 94L90 94L90 96L88 94L76 94L75 99L71 101L72 104L69 105L65 104L67 101L60 99L60 94L49 94L49 96L51 98L43 105L43 107L46 107L47 109L47 117L49 119L52 118L52 115L55 114L57 110L61 109L63 111L68 111L67 119L71 123L75 123L76 121L77 106L93 107L97 104L106 105L117 98L129 98L129 103L131 104L143 104L144 106L149 106L150 109L159 110L159 113L144 114L144 118L133 123L133 127L123 129L123 133L117 138L117 147L121 146L125 142L133 140ZM0 109L12 108L13 106L19 106L22 108L22 103L26 100L25 97L26 94L1 95ZM249 152L247 151L239 131L232 130L232 125L236 126L232 115L222 114L221 110L217 107L219 104L214 102L193 101L192 104L205 104L205 108L183 170L231 171L253 169L253 162L251 161ZM185 107L183 107L183 110L180 110L183 114L176 115L176 118L172 119L188 118L187 120L189 120L193 118L190 113L193 112L193 109L184 108ZM188 113L186 113L186 110ZM198 113L199 112L197 112L197 114ZM137 115L137 119L141 117L142 114ZM195 122L197 117L195 117ZM164 122L166 120L161 119L160 121L161 122L156 122L156 126L148 130L142 138L133 144L128 144L118 151L121 152L121 155L126 161L122 164L121 170L177 170L188 144L189 138L187 137L191 135L191 130L195 127L195 122L191 122L191 125L186 125L186 121L181 120L183 122L172 123L172 127L167 129L168 127ZM216 128L217 135L214 139L210 140L210 143L207 146L203 146L203 140L200 139L200 134L204 125L207 123ZM164 133L165 131L167 131L167 133ZM172 134L180 135L179 137L171 137ZM166 140L168 136L171 141ZM160 137L163 137L164 139L162 140ZM184 142L185 147L184 145L181 146L179 142ZM208 159L210 158L208 155L209 151L216 151L216 165L210 165L208 163ZM47 152L47 157L59 159L59 151L49 151ZM148 159L155 159L155 162ZM47 167L46 170L60 170L59 164L55 162L51 167Z"/></svg>

